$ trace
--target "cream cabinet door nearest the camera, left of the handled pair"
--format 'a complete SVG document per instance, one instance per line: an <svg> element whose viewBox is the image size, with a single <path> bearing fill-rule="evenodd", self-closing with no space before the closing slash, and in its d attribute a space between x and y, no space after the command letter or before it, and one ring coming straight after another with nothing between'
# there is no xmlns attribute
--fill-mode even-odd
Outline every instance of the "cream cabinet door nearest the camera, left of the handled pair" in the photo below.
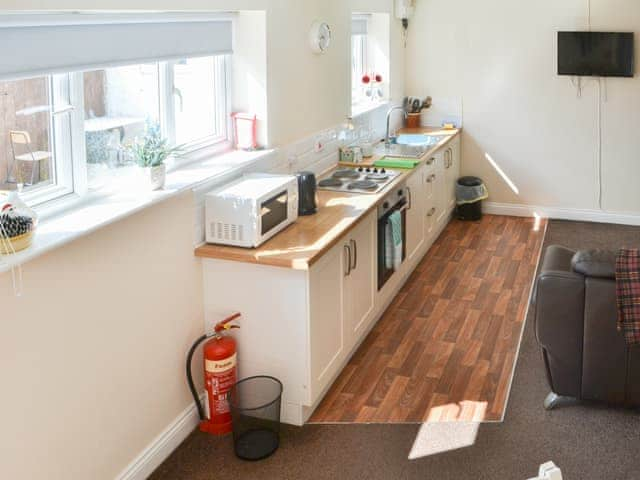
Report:
<svg viewBox="0 0 640 480"><path fill-rule="evenodd" d="M311 401L331 380L346 355L344 338L344 278L347 250L339 243L309 271L309 349ZM292 358L292 362L298 359Z"/></svg>

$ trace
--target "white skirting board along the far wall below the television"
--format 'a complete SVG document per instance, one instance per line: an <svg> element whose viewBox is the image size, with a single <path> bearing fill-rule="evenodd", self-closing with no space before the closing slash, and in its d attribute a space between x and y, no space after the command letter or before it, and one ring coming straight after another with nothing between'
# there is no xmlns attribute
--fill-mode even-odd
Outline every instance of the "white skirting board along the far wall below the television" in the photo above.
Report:
<svg viewBox="0 0 640 480"><path fill-rule="evenodd" d="M575 220L581 222L617 223L621 225L640 225L640 215L631 213L607 212L604 210L587 210L578 208L540 207L535 205L518 205L515 203L485 202L484 213L491 215L510 215L514 217L533 217L559 220Z"/></svg>

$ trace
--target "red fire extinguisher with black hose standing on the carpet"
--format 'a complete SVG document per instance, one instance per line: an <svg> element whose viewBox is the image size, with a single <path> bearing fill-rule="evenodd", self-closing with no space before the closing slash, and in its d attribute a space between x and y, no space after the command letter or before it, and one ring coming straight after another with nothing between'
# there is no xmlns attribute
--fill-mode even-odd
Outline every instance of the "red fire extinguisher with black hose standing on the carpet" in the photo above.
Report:
<svg viewBox="0 0 640 480"><path fill-rule="evenodd" d="M218 322L213 333L202 335L191 346L187 355L187 381L193 399L198 407L200 416L200 430L214 435L224 435L231 432L231 412L227 394L236 383L236 341L233 337L224 335L224 332L232 328L240 328L231 322L240 317L235 313L221 322ZM191 359L196 348L204 342L202 349L204 357L204 384L209 400L209 418L205 415L200 396L193 384L191 374Z"/></svg>

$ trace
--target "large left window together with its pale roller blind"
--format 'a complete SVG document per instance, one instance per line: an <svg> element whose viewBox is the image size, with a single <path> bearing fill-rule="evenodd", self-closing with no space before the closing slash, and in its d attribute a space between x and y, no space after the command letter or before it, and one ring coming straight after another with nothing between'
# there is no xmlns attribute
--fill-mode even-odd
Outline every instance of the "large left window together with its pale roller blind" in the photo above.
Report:
<svg viewBox="0 0 640 480"><path fill-rule="evenodd" d="M126 146L149 130L186 160L227 141L231 21L141 15L0 16L0 41L27 59L0 66L0 190L41 205L119 188L134 168Z"/></svg>

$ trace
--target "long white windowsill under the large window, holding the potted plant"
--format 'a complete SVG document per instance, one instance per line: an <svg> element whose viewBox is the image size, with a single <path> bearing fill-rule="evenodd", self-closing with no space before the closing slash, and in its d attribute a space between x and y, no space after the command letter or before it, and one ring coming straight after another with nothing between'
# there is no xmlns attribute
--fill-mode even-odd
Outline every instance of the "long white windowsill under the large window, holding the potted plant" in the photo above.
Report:
<svg viewBox="0 0 640 480"><path fill-rule="evenodd" d="M212 183L220 177L239 173L272 152L232 151L176 167L167 173L164 189L154 192L129 190L88 195L81 200L72 199L67 208L61 208L54 214L45 213L29 248L13 255L0 256L0 272L6 272L143 208Z"/></svg>

